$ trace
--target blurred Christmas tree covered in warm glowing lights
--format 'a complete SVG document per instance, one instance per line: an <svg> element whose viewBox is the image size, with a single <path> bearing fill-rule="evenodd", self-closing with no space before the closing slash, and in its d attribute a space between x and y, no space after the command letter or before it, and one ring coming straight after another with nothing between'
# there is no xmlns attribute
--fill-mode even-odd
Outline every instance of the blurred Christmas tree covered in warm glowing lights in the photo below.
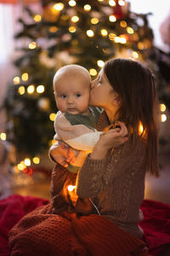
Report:
<svg viewBox="0 0 170 256"><path fill-rule="evenodd" d="M24 12L14 38L25 43L14 61L18 73L4 102L7 140L14 145L18 167L25 158L38 163L37 154L53 143L53 78L59 67L82 65L94 79L111 57L147 59L145 53L153 47L150 14L131 12L124 0L42 0L39 13L26 6Z"/></svg>

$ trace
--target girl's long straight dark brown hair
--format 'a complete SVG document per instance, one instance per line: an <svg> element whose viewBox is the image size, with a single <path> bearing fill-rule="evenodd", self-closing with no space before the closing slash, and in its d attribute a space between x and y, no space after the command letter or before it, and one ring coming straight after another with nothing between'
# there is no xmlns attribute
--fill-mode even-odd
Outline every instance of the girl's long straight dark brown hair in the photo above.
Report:
<svg viewBox="0 0 170 256"><path fill-rule="evenodd" d="M139 125L146 143L147 171L158 177L158 121L156 81L149 67L130 59L113 59L104 67L106 79L121 98L118 116L132 132L133 142L139 137Z"/></svg>

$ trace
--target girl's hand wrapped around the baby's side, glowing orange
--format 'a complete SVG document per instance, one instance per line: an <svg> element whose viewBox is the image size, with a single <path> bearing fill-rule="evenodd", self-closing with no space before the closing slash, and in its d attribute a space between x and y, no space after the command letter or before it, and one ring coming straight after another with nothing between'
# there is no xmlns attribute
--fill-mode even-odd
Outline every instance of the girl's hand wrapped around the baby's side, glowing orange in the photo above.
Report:
<svg viewBox="0 0 170 256"><path fill-rule="evenodd" d="M75 161L73 149L66 143L54 145L54 147L50 149L49 154L55 162L64 167L67 167L68 163L72 164Z"/></svg>

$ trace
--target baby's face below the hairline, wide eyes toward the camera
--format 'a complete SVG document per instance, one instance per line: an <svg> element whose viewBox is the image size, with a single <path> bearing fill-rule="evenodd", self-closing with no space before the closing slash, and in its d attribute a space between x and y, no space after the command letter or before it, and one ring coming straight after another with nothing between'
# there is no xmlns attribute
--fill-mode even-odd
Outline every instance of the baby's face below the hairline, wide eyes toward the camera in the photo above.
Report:
<svg viewBox="0 0 170 256"><path fill-rule="evenodd" d="M88 114L90 81L80 75L67 75L54 84L57 108L64 113Z"/></svg>

